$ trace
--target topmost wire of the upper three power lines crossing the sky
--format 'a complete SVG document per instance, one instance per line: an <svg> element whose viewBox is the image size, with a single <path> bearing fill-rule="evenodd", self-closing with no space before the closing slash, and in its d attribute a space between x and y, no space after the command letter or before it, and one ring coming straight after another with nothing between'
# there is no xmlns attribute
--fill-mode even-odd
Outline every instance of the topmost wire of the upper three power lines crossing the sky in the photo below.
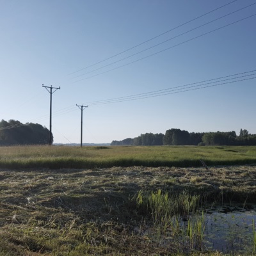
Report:
<svg viewBox="0 0 256 256"><path fill-rule="evenodd" d="M125 51L119 52L119 53L117 53L117 54L115 54L115 55L113 55L113 56L110 56L109 58L106 58L106 59L101 60L101 61L99 61L99 62L97 62L97 63L94 63L94 64L89 65L89 66L87 66L87 67L81 68L81 69L79 69L79 70L77 70L77 71L75 71L75 72L72 72L72 73L68 74L68 76L70 76L70 75L72 75L72 74L76 74L77 72L80 72L81 70L84 70L84 69L86 69L86 68L93 67L93 66L95 66L95 65L97 65L97 64L99 64L99 63L102 63L102 62L104 62L104 61L110 60L111 58L114 58L114 57L116 57L116 56L118 56L118 55L120 55L120 54L123 54L124 52L131 51L132 49L134 49L134 48L136 48L136 47L139 47L140 45L146 44L147 42L150 42L150 41L152 41L152 40L158 38L159 36L165 35L166 33L169 33L169 32L171 32L171 31L173 31L173 30L175 30L175 29L177 29L177 28L180 28L180 27L182 27L182 26L184 26L184 25L186 25L186 24L188 24L188 23L190 23L190 22L193 22L193 21L195 21L195 20L197 20L197 19L200 19L200 18L204 17L205 15L208 15L209 13L216 12L217 10L220 10L221 8L223 8L223 7L225 7L225 6L228 6L229 4L232 4L232 3L236 2L236 1L237 1L237 0L234 0L234 1L231 1L230 3L224 4L224 5L222 5L222 6L218 7L218 8L215 8L214 10L211 10L210 12L204 13L204 14L202 14L202 15L200 15L200 16L194 18L194 19L191 19L191 20L189 20L189 21L187 21L187 22L184 22L184 23L180 24L179 26L176 26L175 28L169 29L169 30L167 30L167 31L165 31L165 32L163 32L163 33L157 35L157 36L154 36L154 37L152 37L152 38L150 38L150 39L148 39L148 40L146 40L146 41L144 41L144 42L138 44L138 45L134 45L133 47L131 47L131 48L125 50Z"/></svg>

